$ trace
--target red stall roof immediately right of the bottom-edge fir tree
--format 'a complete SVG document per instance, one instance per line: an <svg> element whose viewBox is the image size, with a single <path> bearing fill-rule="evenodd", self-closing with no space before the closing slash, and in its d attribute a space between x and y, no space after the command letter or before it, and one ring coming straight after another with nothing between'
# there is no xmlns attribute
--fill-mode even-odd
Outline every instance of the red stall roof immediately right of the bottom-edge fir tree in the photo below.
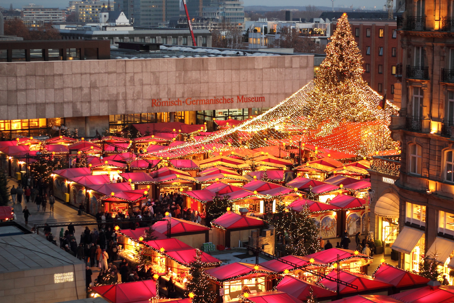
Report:
<svg viewBox="0 0 454 303"><path fill-rule="evenodd" d="M261 265L235 262L217 268L208 269L205 273L209 274L215 281L224 282L249 276L263 276L273 274L274 272Z"/></svg>

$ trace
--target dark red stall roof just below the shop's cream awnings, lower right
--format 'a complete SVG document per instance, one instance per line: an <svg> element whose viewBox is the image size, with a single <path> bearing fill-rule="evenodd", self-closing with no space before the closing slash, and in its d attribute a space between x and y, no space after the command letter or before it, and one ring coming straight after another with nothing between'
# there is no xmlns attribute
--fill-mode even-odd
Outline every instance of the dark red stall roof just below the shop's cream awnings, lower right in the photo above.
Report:
<svg viewBox="0 0 454 303"><path fill-rule="evenodd" d="M401 268L392 265L381 263L373 277L380 279L380 281L390 283L395 287L405 287L415 284L426 284L430 281L428 278L421 277L418 274L410 273Z"/></svg>

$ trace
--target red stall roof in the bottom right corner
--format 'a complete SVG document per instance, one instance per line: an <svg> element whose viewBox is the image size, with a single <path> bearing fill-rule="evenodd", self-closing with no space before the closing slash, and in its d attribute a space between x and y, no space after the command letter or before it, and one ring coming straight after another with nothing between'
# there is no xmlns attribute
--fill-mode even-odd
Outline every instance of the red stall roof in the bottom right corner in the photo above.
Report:
<svg viewBox="0 0 454 303"><path fill-rule="evenodd" d="M425 286L396 293L390 297L404 303L452 303L454 302L454 286L441 285L433 289Z"/></svg>

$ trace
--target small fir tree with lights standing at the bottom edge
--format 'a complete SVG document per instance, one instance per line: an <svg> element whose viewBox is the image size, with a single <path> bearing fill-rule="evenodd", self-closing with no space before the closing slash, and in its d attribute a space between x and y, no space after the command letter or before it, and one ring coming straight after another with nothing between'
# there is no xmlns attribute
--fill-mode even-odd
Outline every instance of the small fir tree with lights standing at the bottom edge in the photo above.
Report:
<svg viewBox="0 0 454 303"><path fill-rule="evenodd" d="M216 292L213 285L210 285L210 278L205 273L202 263L202 251L196 248L195 261L189 264L189 275L191 276L186 283L188 291L185 295L192 298L192 303L214 303Z"/></svg>

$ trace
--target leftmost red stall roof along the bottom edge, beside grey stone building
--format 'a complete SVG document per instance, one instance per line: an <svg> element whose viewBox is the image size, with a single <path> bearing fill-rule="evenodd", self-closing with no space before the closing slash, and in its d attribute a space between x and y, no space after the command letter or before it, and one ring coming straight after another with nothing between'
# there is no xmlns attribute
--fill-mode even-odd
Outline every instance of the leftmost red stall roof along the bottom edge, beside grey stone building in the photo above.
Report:
<svg viewBox="0 0 454 303"><path fill-rule="evenodd" d="M155 280L144 280L94 286L91 289L112 303L133 303L157 297L158 287Z"/></svg>

